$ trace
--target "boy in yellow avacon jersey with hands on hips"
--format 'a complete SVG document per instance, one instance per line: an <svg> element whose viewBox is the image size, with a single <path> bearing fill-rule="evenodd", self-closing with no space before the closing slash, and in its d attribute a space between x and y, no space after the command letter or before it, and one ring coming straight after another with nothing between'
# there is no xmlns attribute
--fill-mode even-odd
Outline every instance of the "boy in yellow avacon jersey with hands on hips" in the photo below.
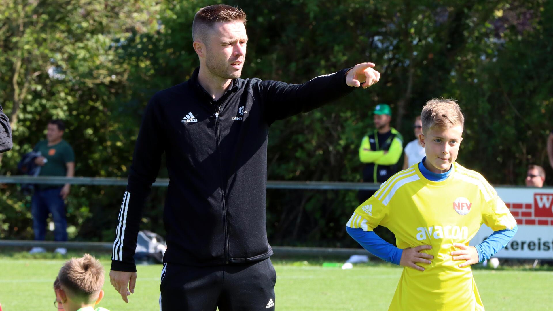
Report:
<svg viewBox="0 0 553 311"><path fill-rule="evenodd" d="M431 100L421 120L426 157L383 183L346 229L375 256L404 266L388 310L484 310L471 265L505 247L517 222L481 174L455 162L465 123L457 103ZM468 246L481 224L493 234ZM379 225L398 247L373 232Z"/></svg>

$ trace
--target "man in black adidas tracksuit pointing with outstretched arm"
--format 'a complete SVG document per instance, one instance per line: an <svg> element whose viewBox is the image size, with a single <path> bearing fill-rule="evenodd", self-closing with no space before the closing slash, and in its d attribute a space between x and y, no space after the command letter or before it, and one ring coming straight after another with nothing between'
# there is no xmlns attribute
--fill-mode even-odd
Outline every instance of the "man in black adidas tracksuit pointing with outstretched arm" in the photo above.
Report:
<svg viewBox="0 0 553 311"><path fill-rule="evenodd" d="M200 67L146 107L113 244L110 280L125 302L135 285L141 210L165 153L160 309L274 310L265 213L269 127L378 81L371 63L301 85L238 79L245 20L241 10L221 4L196 13Z"/></svg>

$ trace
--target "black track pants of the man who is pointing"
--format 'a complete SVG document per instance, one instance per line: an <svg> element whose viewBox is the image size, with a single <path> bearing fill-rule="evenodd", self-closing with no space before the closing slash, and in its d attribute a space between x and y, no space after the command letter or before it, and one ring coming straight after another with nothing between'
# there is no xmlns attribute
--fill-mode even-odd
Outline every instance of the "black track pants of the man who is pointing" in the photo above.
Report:
<svg viewBox="0 0 553 311"><path fill-rule="evenodd" d="M211 267L165 263L160 311L274 310L276 272L270 259Z"/></svg>

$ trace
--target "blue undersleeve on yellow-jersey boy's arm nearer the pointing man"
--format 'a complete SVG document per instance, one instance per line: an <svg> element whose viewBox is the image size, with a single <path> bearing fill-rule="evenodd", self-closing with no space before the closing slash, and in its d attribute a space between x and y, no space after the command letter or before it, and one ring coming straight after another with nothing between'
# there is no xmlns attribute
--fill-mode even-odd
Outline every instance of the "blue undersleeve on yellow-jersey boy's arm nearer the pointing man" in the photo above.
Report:
<svg viewBox="0 0 553 311"><path fill-rule="evenodd" d="M364 231L361 228L346 227L347 233L353 237L363 248L378 258L399 265L401 260L401 248L384 241L374 231Z"/></svg>

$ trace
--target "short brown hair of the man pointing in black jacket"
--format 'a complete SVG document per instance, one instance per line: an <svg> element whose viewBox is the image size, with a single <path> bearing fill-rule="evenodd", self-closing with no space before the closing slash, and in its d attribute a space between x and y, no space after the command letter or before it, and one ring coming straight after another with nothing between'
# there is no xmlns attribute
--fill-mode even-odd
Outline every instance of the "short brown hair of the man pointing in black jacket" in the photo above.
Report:
<svg viewBox="0 0 553 311"><path fill-rule="evenodd" d="M242 9L226 4L215 4L201 8L194 15L194 21L192 22L192 40L204 42L207 31L218 22L242 22L246 25L246 13Z"/></svg>

